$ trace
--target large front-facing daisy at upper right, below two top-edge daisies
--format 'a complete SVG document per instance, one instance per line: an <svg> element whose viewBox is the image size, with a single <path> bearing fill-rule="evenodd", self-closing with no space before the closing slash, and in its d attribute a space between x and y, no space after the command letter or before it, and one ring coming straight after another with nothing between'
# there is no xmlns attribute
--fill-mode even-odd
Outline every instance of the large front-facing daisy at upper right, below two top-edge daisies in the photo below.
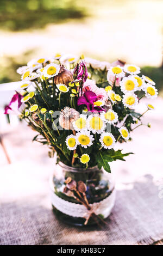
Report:
<svg viewBox="0 0 163 256"><path fill-rule="evenodd" d="M135 92L138 87L138 82L134 76L124 77L120 82L121 90L123 93Z"/></svg>

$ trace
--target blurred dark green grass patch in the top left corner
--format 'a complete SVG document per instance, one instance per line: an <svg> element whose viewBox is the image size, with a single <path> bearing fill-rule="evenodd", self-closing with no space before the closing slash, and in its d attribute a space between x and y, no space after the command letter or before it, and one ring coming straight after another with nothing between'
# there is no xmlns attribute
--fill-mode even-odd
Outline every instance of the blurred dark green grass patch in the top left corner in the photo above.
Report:
<svg viewBox="0 0 163 256"><path fill-rule="evenodd" d="M43 28L86 15L75 0L0 0L1 29L8 31Z"/></svg>

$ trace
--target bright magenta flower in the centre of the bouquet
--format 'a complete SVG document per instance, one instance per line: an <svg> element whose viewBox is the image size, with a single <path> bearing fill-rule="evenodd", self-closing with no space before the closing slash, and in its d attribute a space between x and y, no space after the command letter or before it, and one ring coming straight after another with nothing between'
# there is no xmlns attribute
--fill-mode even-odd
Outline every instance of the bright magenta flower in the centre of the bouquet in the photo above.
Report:
<svg viewBox="0 0 163 256"><path fill-rule="evenodd" d="M77 104L80 105L86 105L87 110L91 112L101 112L105 111L104 108L100 106L96 106L93 104L93 102L97 101L97 95L96 93L93 93L91 90L87 90L83 96L80 96L78 98Z"/></svg>

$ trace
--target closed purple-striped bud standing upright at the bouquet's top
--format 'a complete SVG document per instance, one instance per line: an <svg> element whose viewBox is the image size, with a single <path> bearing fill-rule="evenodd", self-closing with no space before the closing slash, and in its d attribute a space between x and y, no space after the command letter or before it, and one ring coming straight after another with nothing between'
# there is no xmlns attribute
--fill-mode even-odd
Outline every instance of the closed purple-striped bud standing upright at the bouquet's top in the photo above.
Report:
<svg viewBox="0 0 163 256"><path fill-rule="evenodd" d="M87 68L84 62L80 62L79 64L76 65L76 68L73 71L73 78L82 80L83 83L85 83L87 79Z"/></svg>

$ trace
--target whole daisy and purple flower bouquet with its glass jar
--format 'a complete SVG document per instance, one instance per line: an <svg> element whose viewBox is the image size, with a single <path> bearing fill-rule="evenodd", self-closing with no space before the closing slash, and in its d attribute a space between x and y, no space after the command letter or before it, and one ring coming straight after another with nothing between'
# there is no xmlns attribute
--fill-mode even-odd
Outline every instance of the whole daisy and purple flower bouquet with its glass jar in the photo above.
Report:
<svg viewBox="0 0 163 256"><path fill-rule="evenodd" d="M115 144L131 140L131 131L143 125L144 113L134 106L158 95L155 83L136 65L70 54L33 59L17 72L22 82L5 114L18 113L37 132L33 141L57 155L55 215L73 225L104 222L115 201L109 162L132 154L114 150Z"/></svg>

